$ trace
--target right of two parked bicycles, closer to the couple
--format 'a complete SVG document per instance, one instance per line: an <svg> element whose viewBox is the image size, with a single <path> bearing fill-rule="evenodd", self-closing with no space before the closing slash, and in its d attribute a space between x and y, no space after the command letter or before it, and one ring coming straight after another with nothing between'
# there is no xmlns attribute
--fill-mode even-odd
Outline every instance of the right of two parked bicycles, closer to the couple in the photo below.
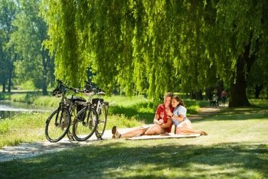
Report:
<svg viewBox="0 0 268 179"><path fill-rule="evenodd" d="M107 123L108 106L109 103L104 102L100 96L104 96L104 92L100 88L94 88L89 82L86 82L83 93L89 96L87 105L80 112L78 112L74 119L73 135L78 141L84 141L90 138L94 131L97 138L102 138ZM98 98L93 98L93 95L98 95ZM92 118L91 112L96 112L98 118ZM91 123L97 123L94 128Z"/></svg>

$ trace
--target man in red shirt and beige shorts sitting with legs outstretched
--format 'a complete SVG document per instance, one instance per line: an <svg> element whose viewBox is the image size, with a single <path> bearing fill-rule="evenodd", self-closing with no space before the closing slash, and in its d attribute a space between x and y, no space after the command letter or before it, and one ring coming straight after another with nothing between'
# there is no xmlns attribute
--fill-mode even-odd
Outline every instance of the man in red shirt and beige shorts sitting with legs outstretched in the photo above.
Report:
<svg viewBox="0 0 268 179"><path fill-rule="evenodd" d="M170 109L173 112L173 107L171 107L172 93L168 92L164 96L164 103L157 107L155 112L155 118L153 120L153 125L144 125L135 129L133 131L128 131L124 134L120 134L116 126L112 129L112 138L131 138L134 136L142 135L159 135L165 134L171 131L172 119L166 113L166 109Z"/></svg>

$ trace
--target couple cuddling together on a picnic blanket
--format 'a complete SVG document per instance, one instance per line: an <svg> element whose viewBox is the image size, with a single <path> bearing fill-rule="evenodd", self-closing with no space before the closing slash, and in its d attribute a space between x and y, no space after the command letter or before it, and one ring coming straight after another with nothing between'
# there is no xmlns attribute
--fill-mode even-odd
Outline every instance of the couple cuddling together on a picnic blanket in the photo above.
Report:
<svg viewBox="0 0 268 179"><path fill-rule="evenodd" d="M192 123L186 117L187 109L184 107L183 100L179 96L173 96L168 92L164 96L164 104L157 107L155 118L152 125L144 125L133 131L120 134L116 126L112 129L112 138L131 138L142 135L160 135L170 133L172 124L175 124L176 134L201 134L208 135L205 131L192 129Z"/></svg>

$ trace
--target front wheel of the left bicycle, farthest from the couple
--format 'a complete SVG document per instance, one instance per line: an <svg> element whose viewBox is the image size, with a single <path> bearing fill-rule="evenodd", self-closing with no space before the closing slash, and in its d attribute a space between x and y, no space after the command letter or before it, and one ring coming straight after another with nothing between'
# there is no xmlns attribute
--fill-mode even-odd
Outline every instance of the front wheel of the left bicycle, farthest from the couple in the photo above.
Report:
<svg viewBox="0 0 268 179"><path fill-rule="evenodd" d="M71 116L68 109L56 109L46 121L45 137L47 140L51 143L61 140L69 130L70 121Z"/></svg>

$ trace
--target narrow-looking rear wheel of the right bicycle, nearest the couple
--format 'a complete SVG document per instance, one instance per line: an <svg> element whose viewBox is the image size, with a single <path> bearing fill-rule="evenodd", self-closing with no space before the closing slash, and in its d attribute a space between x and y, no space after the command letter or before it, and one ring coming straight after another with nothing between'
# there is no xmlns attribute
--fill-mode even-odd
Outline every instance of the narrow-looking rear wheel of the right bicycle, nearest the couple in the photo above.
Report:
<svg viewBox="0 0 268 179"><path fill-rule="evenodd" d="M98 121L98 126L95 132L97 138L102 138L104 134L106 123L107 123L107 115L108 115L108 107L107 105L102 103L100 110L98 111L99 121Z"/></svg>

